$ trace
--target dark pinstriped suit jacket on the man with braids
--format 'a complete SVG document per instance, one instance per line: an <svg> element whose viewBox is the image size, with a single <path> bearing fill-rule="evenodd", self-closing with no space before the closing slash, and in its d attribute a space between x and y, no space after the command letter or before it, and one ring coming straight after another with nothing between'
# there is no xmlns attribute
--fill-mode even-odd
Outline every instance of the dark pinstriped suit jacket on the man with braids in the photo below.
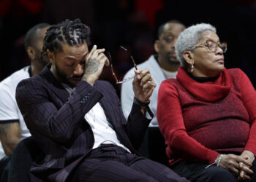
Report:
<svg viewBox="0 0 256 182"><path fill-rule="evenodd" d="M97 81L91 87L81 81L69 96L48 66L18 84L16 99L44 154L31 166L31 181L67 180L94 146L94 135L84 116L97 102L104 108L119 141L132 153L140 146L150 122L135 104L127 122L116 91L108 82Z"/></svg>

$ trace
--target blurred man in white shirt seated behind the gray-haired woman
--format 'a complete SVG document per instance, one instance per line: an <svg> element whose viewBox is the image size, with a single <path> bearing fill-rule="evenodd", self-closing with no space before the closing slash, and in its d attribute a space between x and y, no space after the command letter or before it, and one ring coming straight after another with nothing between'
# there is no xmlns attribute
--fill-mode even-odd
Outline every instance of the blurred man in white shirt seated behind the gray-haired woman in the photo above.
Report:
<svg viewBox="0 0 256 182"><path fill-rule="evenodd" d="M157 87L151 95L151 108L154 118L149 127L158 126L157 123L157 95L161 82L165 79L176 78L180 63L176 58L175 44L179 33L184 31L185 26L176 20L162 24L158 29L158 39L154 42L154 50L157 55L151 55L148 60L138 65L138 68L148 68ZM124 79L134 76L134 68L125 74ZM121 86L121 106L124 116L127 118L132 108L134 93L132 92L132 81L124 82Z"/></svg>

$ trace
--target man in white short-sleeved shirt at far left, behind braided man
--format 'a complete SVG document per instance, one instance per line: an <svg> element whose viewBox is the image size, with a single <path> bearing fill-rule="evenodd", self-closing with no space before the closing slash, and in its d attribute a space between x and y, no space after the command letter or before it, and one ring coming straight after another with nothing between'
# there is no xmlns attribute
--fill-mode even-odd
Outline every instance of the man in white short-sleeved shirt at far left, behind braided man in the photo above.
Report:
<svg viewBox="0 0 256 182"><path fill-rule="evenodd" d="M15 91L18 83L30 76L38 74L48 63L48 59L42 59L40 52L47 23L40 23L32 27L25 36L25 48L31 60L31 66L16 71L0 83L0 181L7 179L7 163L15 146L30 132L26 127L23 116L20 113L15 99Z"/></svg>

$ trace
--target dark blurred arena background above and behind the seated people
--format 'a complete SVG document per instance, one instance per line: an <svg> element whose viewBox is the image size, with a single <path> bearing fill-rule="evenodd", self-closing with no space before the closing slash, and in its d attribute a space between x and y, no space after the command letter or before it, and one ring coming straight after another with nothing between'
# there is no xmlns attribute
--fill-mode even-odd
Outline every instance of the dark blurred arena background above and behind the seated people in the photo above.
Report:
<svg viewBox="0 0 256 182"><path fill-rule="evenodd" d="M0 81L30 64L23 46L29 28L66 18L80 18L90 26L92 45L110 52L118 79L132 68L130 55L142 63L154 53L162 23L211 23L220 40L227 42L226 68L241 68L256 87L255 0L0 0ZM110 68L101 79L111 82L119 94L121 85L116 85Z"/></svg>

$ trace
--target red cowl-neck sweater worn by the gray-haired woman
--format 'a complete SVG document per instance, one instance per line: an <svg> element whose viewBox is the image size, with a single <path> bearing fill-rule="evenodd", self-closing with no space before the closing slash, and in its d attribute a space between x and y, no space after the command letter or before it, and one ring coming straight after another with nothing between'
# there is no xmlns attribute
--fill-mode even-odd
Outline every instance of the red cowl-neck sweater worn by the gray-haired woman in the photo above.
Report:
<svg viewBox="0 0 256 182"><path fill-rule="evenodd" d="M240 69L199 83L184 68L159 87L157 120L170 165L181 159L211 164L219 153L256 154L256 92Z"/></svg>

